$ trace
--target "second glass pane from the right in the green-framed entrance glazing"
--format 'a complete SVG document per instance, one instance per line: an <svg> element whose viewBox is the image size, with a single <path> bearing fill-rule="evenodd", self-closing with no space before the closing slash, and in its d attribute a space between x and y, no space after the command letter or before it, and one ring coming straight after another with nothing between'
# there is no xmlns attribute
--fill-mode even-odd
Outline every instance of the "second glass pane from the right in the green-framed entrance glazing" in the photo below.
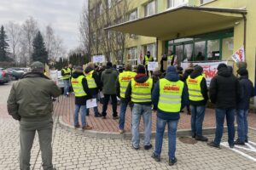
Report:
<svg viewBox="0 0 256 170"><path fill-rule="evenodd" d="M219 60L219 40L207 41L207 58L208 60Z"/></svg>

